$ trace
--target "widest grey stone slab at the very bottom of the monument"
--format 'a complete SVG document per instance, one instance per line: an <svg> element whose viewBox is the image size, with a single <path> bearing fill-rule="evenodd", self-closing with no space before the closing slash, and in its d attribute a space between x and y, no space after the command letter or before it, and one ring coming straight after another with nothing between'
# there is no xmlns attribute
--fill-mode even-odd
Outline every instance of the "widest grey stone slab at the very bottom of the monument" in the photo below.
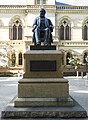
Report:
<svg viewBox="0 0 88 120"><path fill-rule="evenodd" d="M36 118L36 120L58 119L58 118L85 118L87 112L82 108L74 99L75 106L73 107L14 107L14 100L2 110L2 118L10 119L30 119Z"/></svg>

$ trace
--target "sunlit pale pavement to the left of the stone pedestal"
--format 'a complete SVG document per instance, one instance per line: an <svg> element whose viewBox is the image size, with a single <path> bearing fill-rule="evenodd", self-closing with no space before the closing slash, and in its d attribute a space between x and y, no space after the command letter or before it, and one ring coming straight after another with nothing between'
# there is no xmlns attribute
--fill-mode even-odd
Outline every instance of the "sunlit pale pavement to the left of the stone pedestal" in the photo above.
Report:
<svg viewBox="0 0 88 120"><path fill-rule="evenodd" d="M0 113L13 98L17 95L18 77L0 77Z"/></svg>

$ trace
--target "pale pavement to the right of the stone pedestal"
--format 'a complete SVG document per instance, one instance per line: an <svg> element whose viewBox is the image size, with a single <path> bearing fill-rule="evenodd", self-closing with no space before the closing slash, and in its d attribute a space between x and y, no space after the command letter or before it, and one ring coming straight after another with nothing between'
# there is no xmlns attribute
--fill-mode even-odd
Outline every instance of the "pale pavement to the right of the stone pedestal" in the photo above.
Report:
<svg viewBox="0 0 88 120"><path fill-rule="evenodd" d="M88 114L88 80L86 78L72 78L69 80L70 95L83 106Z"/></svg>

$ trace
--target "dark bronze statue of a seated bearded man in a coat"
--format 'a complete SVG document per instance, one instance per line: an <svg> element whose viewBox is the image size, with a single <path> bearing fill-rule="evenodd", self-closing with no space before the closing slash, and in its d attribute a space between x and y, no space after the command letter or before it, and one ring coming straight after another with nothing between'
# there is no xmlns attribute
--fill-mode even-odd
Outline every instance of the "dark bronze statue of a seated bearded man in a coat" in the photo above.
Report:
<svg viewBox="0 0 88 120"><path fill-rule="evenodd" d="M41 8L40 17L36 18L33 24L32 40L35 45L41 45L41 42L44 42L44 46L49 46L53 42L52 32L54 27L51 20L45 17L45 13L45 9Z"/></svg>

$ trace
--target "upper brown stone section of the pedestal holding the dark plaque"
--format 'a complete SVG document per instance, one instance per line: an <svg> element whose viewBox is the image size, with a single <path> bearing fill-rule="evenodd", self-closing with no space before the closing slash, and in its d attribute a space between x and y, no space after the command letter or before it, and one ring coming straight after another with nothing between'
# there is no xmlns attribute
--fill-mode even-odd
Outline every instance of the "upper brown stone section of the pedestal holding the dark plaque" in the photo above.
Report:
<svg viewBox="0 0 88 120"><path fill-rule="evenodd" d="M61 59L61 52L56 50L27 51L23 78L62 78Z"/></svg>

